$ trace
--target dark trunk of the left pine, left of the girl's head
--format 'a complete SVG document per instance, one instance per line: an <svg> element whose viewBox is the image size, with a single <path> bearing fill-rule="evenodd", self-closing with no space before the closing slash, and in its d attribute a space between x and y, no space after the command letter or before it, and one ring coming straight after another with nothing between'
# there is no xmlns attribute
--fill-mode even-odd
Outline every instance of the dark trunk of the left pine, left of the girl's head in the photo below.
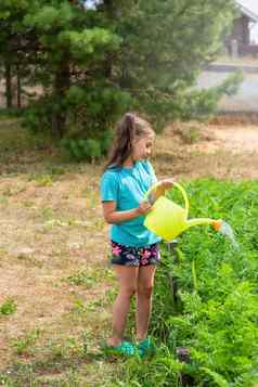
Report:
<svg viewBox="0 0 258 387"><path fill-rule="evenodd" d="M54 96L59 101L59 109L52 116L52 133L54 137L63 138L66 124L66 111L62 106L65 93L70 85L69 62L63 61L55 72L54 77Z"/></svg>

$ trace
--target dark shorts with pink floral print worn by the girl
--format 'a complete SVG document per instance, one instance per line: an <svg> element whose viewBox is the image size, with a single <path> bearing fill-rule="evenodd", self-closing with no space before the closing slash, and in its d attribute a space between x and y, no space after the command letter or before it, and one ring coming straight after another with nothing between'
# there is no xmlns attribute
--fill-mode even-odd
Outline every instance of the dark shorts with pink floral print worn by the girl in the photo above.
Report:
<svg viewBox="0 0 258 387"><path fill-rule="evenodd" d="M124 246L114 241L111 241L111 263L113 265L141 267L147 265L157 265L160 260L157 243L145 247Z"/></svg>

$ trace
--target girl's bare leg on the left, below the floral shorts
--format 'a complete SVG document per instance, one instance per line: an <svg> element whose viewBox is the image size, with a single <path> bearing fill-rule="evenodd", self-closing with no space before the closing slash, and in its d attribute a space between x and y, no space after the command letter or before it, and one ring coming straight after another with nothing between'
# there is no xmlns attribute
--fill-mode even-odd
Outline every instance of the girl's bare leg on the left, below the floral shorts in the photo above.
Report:
<svg viewBox="0 0 258 387"><path fill-rule="evenodd" d="M137 291L138 267L114 265L114 268L119 282L119 294L113 306L113 335L108 344L116 347L122 340L130 298Z"/></svg>

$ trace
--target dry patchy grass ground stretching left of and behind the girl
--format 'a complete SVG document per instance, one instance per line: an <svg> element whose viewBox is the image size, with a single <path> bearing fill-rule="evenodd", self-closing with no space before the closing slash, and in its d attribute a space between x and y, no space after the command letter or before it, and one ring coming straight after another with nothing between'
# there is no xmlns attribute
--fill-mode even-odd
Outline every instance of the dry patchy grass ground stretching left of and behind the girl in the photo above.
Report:
<svg viewBox="0 0 258 387"><path fill-rule="evenodd" d="M48 138L20 124L0 121L0 384L130 386L122 379L136 364L100 350L116 294L99 201L102 165L67 163ZM256 170L255 155L236 159L198 145L167 130L157 138L157 175L243 179Z"/></svg>

